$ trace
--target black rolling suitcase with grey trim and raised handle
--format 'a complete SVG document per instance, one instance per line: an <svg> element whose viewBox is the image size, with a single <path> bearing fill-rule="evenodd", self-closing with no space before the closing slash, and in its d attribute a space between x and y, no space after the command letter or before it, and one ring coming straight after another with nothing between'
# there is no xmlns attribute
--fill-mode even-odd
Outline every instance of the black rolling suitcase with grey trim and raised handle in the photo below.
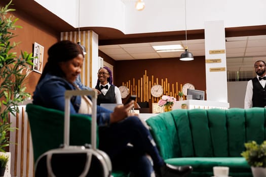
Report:
<svg viewBox="0 0 266 177"><path fill-rule="evenodd" d="M91 145L69 146L70 98L78 95L90 95L92 98ZM96 148L96 112L97 92L66 91L64 115L64 144L42 154L35 164L35 177L40 176L111 176L111 161L106 153Z"/></svg>

